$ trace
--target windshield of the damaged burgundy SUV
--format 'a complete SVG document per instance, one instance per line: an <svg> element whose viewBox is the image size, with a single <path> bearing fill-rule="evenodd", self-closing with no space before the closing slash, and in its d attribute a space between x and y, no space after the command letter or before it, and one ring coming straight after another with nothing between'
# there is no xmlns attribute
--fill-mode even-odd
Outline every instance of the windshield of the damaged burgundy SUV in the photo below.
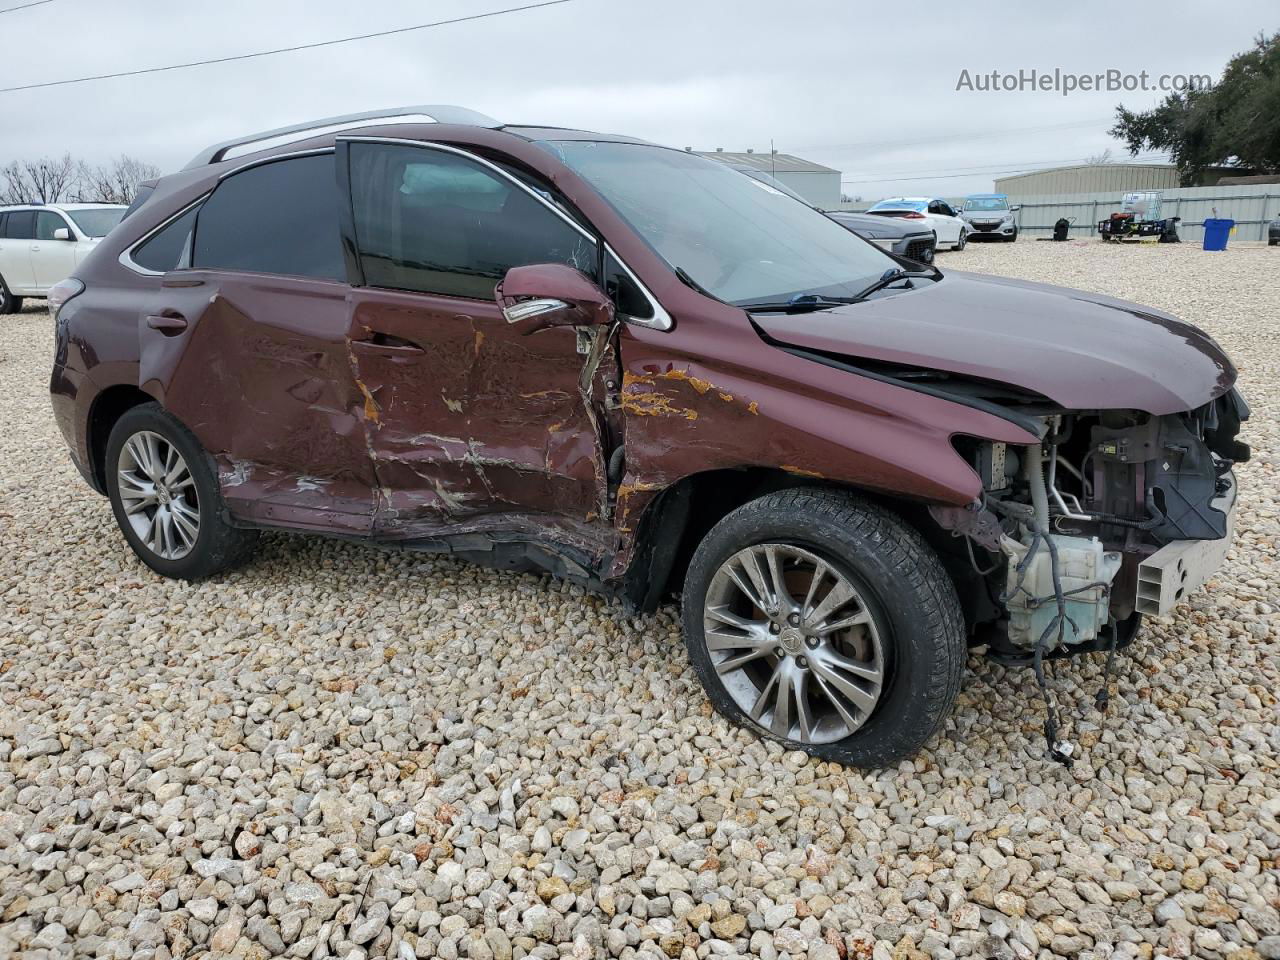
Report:
<svg viewBox="0 0 1280 960"><path fill-rule="evenodd" d="M543 146L673 270L730 303L855 296L897 266L813 207L714 160L643 143Z"/></svg>

